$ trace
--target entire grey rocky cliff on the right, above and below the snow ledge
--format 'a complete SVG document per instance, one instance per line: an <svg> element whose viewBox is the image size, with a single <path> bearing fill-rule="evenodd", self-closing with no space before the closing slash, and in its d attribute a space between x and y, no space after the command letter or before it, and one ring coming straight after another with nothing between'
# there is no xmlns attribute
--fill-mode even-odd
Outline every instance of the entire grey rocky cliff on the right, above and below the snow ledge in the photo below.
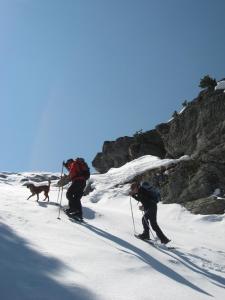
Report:
<svg viewBox="0 0 225 300"><path fill-rule="evenodd" d="M193 213L224 213L225 200L225 93L204 90L170 122L136 137L105 142L93 166L99 172L146 155L179 158L189 155L170 170L154 170L139 179L159 182L165 203L180 203ZM164 176L165 175L165 176ZM220 198L212 196L219 190Z"/></svg>

